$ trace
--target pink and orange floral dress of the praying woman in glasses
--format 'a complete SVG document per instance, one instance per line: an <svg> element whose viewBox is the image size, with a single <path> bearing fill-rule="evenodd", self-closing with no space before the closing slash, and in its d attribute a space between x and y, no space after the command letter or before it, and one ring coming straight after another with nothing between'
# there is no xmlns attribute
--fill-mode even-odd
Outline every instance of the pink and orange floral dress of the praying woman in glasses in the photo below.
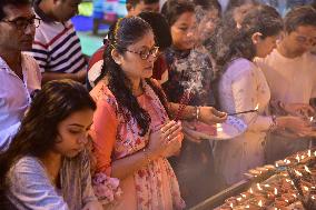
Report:
<svg viewBox="0 0 316 210"><path fill-rule="evenodd" d="M144 94L137 97L139 104L151 118L155 130L168 120L159 98L146 81ZM90 92L97 102L91 127L96 171L111 174L111 162L141 151L149 140L149 132L139 136L135 119L126 121L119 112L115 96L106 84L99 82ZM151 161L129 177L120 180L122 196L108 209L171 210L184 209L177 178L166 158Z"/></svg>

